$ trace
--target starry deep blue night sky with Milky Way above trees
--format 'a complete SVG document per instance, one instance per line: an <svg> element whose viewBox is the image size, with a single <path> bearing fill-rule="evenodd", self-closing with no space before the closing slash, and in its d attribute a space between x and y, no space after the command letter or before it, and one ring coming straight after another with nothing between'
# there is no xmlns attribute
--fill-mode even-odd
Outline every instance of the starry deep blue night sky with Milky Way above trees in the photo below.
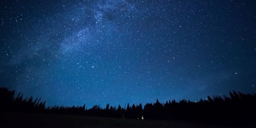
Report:
<svg viewBox="0 0 256 128"><path fill-rule="evenodd" d="M46 105L256 92L254 0L0 3L0 87Z"/></svg>

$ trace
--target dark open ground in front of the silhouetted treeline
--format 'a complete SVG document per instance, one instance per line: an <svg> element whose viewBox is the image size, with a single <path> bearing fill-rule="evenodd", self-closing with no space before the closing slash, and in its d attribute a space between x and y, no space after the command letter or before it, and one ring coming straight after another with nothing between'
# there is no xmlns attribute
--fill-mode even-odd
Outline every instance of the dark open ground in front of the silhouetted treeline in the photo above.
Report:
<svg viewBox="0 0 256 128"><path fill-rule="evenodd" d="M134 120L73 115L1 113L1 128L245 128L185 121ZM247 127L250 128L250 127Z"/></svg>

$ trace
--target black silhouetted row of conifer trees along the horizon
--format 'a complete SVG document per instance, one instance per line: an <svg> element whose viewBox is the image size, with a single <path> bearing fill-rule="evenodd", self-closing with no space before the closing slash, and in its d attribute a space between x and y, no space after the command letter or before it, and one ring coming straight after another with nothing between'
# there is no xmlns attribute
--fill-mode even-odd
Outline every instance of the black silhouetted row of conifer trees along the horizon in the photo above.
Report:
<svg viewBox="0 0 256 128"><path fill-rule="evenodd" d="M130 105L125 108L106 105L101 108L94 105L93 108L86 109L83 106L45 106L45 101L41 99L33 100L33 97L23 98L19 93L14 96L15 91L7 88L0 88L0 111L1 112L26 112L26 113L52 113L52 114L72 114L114 118L131 119L154 119L154 120L192 120L203 122L252 122L256 119L256 94L244 94L240 91L229 92L230 97L213 96L208 99L201 99L199 102L190 100L175 100L160 103L147 103L144 105Z"/></svg>

